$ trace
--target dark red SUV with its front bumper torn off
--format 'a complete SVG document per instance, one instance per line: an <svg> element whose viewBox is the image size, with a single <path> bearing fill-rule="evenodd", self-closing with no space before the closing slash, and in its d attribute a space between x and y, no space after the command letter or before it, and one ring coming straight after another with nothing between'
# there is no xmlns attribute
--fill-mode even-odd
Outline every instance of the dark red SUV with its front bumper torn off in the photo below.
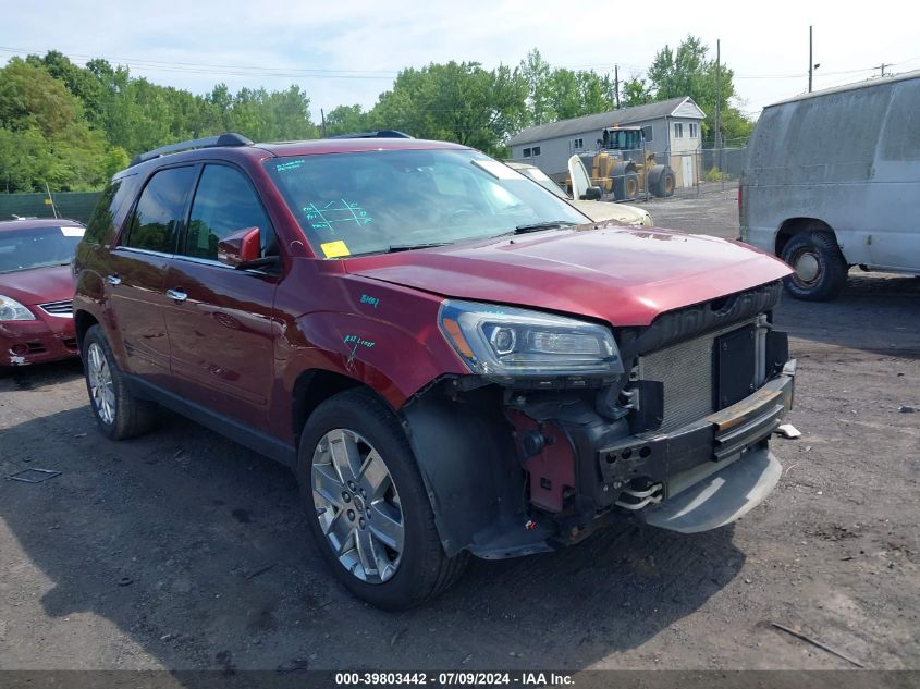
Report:
<svg viewBox="0 0 920 689"><path fill-rule="evenodd" d="M715 528L778 479L789 269L591 223L463 146L158 149L112 180L76 271L101 431L159 404L290 465L331 570L375 605L624 515Z"/></svg>

